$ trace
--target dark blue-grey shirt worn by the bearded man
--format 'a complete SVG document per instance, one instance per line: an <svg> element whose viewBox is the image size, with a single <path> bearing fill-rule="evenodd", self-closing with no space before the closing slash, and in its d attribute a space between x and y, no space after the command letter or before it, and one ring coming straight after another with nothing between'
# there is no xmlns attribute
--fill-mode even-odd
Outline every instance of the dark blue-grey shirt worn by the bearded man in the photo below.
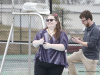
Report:
<svg viewBox="0 0 100 75"><path fill-rule="evenodd" d="M86 27L84 37L84 42L88 42L88 47L83 46L83 54L88 59L99 60L99 40L100 33L99 28L95 23L90 27Z"/></svg>

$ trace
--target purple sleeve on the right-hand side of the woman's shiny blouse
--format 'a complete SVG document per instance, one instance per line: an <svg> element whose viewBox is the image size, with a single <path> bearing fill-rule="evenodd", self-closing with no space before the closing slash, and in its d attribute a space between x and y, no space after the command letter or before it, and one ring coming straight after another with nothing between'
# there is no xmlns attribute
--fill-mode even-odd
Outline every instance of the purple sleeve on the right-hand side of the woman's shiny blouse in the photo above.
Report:
<svg viewBox="0 0 100 75"><path fill-rule="evenodd" d="M68 37L65 32L62 32L60 35L60 44L63 44L65 46L65 50L68 47Z"/></svg>

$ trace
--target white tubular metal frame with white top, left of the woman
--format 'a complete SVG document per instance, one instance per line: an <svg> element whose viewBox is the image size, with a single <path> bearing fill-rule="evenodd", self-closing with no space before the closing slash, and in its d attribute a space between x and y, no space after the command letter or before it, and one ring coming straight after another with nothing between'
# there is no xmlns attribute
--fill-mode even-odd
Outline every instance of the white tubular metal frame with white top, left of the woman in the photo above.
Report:
<svg viewBox="0 0 100 75"><path fill-rule="evenodd" d="M31 6L30 6L31 4ZM32 7L37 7L39 8L40 7L44 7L46 6L46 4L38 4L38 3L31 3L31 0L30 2L26 3L26 7L29 6L29 8L31 8L30 10L28 10L29 8L26 8L24 7L24 13L18 13L18 12L14 12L14 0L12 0L12 15L13 15L13 21L12 21L12 25L11 25L11 29L10 29L10 33L9 33L9 36L8 36L8 40L7 40L7 44L6 44L6 48L5 48L5 52L4 52L4 55L3 55L3 59L2 59L2 62L1 62L1 67L0 67L0 75L2 73L2 69L3 69L3 65L4 65L4 62L5 62L5 58L6 58L6 55L7 55L7 51L8 51L8 47L9 47L9 44L10 44L10 39L11 39L11 36L12 36L12 39L11 39L11 43L14 43L13 42L13 35L14 35L14 18L15 18L15 15L28 15L29 16L29 52L28 52L28 75L30 75L30 71L31 71L31 16L39 16L41 21L42 21L42 25L43 25L43 28L45 28L45 24L44 24L44 20L43 20L43 17L42 15L48 15L50 14L50 11L49 9L37 9L37 8L32 8ZM36 9L35 12L32 11L33 9ZM44 12L45 11L45 12ZM15 43L14 43L15 44ZM21 44L21 43L20 43Z"/></svg>

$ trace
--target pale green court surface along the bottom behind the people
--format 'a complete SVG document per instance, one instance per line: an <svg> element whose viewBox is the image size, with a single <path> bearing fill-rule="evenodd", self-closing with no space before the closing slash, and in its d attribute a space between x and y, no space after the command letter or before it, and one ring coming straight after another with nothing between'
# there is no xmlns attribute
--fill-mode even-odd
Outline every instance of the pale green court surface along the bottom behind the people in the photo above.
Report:
<svg viewBox="0 0 100 75"><path fill-rule="evenodd" d="M70 54L67 54L70 55ZM31 55L31 75L34 75L34 56ZM0 55L0 64L3 55ZM86 75L82 63L75 64L78 75ZM6 55L5 63L1 75L29 75L28 74L28 55ZM68 75L68 69L64 69L62 75ZM96 75L100 75L100 61L97 65Z"/></svg>

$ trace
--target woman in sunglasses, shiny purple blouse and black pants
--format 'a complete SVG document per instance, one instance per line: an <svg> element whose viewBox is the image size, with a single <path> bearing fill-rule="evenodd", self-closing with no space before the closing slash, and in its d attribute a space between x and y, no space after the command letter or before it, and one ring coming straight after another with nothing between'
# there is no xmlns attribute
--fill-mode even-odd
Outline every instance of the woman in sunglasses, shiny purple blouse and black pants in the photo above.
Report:
<svg viewBox="0 0 100 75"><path fill-rule="evenodd" d="M61 75L64 67L67 68L65 50L68 47L68 38L61 30L57 14L50 14L47 27L40 30L34 40L33 46L39 50L35 55L35 75Z"/></svg>

